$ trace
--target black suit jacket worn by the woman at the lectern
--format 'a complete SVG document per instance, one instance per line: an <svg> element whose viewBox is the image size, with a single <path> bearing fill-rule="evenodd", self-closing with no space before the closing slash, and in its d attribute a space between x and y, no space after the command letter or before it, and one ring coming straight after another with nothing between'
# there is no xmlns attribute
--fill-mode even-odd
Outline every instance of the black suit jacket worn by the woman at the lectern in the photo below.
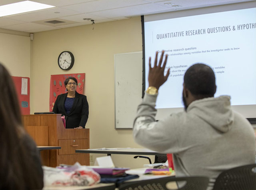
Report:
<svg viewBox="0 0 256 190"><path fill-rule="evenodd" d="M79 126L85 128L85 124L89 116L89 105L86 96L76 92L75 100L69 114L66 113L64 108L64 103L67 96L68 93L60 94L55 101L52 111L55 114L65 116L66 128L75 128Z"/></svg>

